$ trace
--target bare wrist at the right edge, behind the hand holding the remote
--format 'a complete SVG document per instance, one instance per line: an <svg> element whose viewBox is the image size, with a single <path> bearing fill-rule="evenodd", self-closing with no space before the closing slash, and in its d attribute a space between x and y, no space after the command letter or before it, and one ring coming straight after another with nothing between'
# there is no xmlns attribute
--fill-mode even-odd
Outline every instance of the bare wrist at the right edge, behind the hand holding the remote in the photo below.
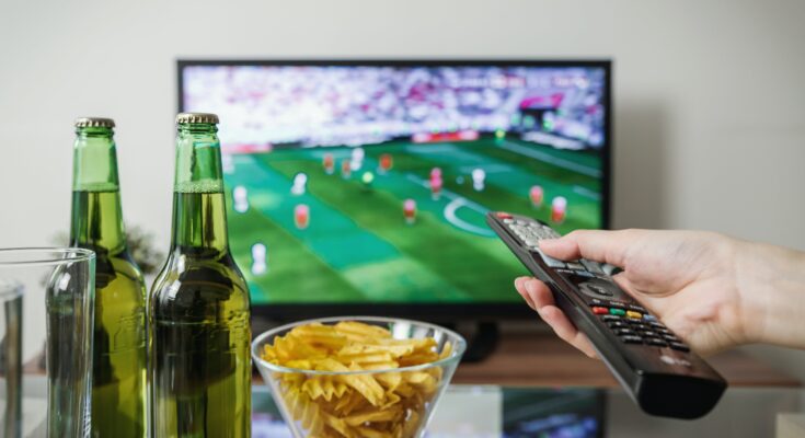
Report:
<svg viewBox="0 0 805 438"><path fill-rule="evenodd" d="M805 348L805 254L763 243L739 242L736 287L749 343Z"/></svg>

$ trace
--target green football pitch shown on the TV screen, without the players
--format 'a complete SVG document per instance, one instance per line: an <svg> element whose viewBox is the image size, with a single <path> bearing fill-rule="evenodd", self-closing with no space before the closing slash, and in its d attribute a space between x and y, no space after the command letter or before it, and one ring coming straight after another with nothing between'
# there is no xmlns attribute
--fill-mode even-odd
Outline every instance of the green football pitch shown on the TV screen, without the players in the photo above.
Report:
<svg viewBox="0 0 805 438"><path fill-rule="evenodd" d="M468 142L387 142L364 146L365 158L349 177L341 173L353 148L275 150L232 155L228 187L232 253L249 280L252 302L410 303L518 301L513 279L527 272L485 223L488 210L505 210L549 223L551 199L567 199L565 233L600 228L601 165L596 153L556 150L513 139ZM335 172L322 165L325 153ZM393 159L380 172L380 155ZM432 169L440 168L444 188L434 198ZM474 169L485 172L483 189ZM292 194L295 175L307 189ZM364 182L365 173L373 176ZM529 189L542 186L534 207ZM248 209L235 211L232 191L248 193ZM416 201L416 220L403 216L405 199ZM295 208L309 208L298 229ZM266 247L265 272L253 270L252 245Z"/></svg>

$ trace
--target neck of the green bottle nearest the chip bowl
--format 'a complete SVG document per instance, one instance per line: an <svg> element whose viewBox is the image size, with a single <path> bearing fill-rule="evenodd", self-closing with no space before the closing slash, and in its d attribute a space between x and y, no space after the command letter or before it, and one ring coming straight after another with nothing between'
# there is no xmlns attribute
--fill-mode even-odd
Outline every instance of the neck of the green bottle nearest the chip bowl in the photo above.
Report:
<svg viewBox="0 0 805 438"><path fill-rule="evenodd" d="M229 251L217 131L214 124L179 125L172 251L197 255Z"/></svg>

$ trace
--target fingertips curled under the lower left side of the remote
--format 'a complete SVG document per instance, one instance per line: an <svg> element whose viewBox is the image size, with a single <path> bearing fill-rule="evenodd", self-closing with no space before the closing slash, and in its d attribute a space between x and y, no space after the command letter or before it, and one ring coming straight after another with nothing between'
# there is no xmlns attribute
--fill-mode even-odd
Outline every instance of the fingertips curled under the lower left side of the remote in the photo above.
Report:
<svg viewBox="0 0 805 438"><path fill-rule="evenodd" d="M520 277L515 280L515 288L528 306L539 313L562 341L578 348L589 357L597 357L587 336L579 332L562 310L555 306L553 295L545 284L534 278Z"/></svg>

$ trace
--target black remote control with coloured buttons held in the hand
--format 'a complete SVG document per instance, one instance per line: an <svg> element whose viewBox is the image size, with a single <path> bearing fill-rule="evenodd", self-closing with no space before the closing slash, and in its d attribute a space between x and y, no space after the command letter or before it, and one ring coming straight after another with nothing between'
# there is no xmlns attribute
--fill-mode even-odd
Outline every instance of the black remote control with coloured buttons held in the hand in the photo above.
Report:
<svg viewBox="0 0 805 438"><path fill-rule="evenodd" d="M490 212L490 227L537 278L556 306L589 337L626 393L647 414L699 418L710 412L726 381L624 292L599 263L562 262L543 254L541 239L559 238L547 224L519 215Z"/></svg>

